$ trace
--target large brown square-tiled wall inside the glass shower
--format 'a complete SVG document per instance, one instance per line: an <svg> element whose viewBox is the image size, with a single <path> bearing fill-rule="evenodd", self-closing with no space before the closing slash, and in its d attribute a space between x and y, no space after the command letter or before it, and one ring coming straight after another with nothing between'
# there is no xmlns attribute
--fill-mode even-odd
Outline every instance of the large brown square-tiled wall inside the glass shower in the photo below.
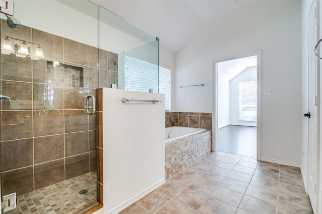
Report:
<svg viewBox="0 0 322 214"><path fill-rule="evenodd" d="M5 22L2 41L9 36L41 44L46 60L82 67L84 87L50 88L46 60L1 55L1 94L12 100L11 105L1 100L3 194L21 195L97 170L98 114L86 113L85 100L97 96L99 84L115 83L117 55L105 50L99 55L98 48L26 26L10 29ZM11 42L13 46L16 41Z"/></svg>

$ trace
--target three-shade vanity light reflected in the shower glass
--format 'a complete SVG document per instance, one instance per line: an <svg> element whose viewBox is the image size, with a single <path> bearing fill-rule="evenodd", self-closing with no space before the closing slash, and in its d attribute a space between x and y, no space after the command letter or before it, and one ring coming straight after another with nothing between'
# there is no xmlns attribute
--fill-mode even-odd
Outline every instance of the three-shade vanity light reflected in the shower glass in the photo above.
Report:
<svg viewBox="0 0 322 214"><path fill-rule="evenodd" d="M35 54L31 55L32 60L39 60L40 58L45 57L43 52L42 52L42 48L41 48L40 44L32 43L32 42L28 42L28 41L25 41L25 40L20 40L20 39L8 37L8 36L5 36L5 37L6 38L5 38L5 40L3 40L3 46L2 46L2 49L1 49L2 54L9 55L11 53L15 53L16 57L25 58L26 56L31 55L30 54L30 45L27 44L27 43L30 43L32 45L37 45L37 48L35 50ZM10 41L9 38L13 39L13 40L16 40L14 49L12 48L11 41ZM18 41L22 42L21 45L18 45Z"/></svg>

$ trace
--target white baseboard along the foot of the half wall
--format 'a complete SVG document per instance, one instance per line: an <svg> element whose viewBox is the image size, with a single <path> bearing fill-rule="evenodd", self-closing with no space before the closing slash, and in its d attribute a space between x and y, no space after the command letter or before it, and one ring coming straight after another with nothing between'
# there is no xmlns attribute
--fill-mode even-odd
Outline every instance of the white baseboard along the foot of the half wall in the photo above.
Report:
<svg viewBox="0 0 322 214"><path fill-rule="evenodd" d="M133 203L135 203L136 201L138 201L139 199L141 199L142 197L144 197L145 195L147 195L148 193L152 192L153 190L155 190L156 188L158 188L159 186L161 186L162 184L164 184L166 182L166 178L163 178L162 180L158 181L157 183L155 183L153 186L145 189L144 191L142 191L141 193L133 196L132 198L130 198L129 200L125 201L123 204L121 204L120 206L114 207L111 210L108 210L107 214L111 213L119 213L120 211L122 211L123 209L127 208L128 206L132 205ZM104 209L104 207L103 207Z"/></svg>

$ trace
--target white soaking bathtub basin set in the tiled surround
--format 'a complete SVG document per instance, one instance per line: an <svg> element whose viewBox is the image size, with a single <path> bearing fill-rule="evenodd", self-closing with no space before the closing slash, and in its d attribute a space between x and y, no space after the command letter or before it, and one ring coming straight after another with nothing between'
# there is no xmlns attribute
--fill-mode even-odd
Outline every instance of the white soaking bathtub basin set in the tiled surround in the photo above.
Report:
<svg viewBox="0 0 322 214"><path fill-rule="evenodd" d="M171 140L179 139L191 134L196 134L198 132L206 131L207 129L203 128L191 128L183 126L171 126L166 128L165 140L169 142Z"/></svg>

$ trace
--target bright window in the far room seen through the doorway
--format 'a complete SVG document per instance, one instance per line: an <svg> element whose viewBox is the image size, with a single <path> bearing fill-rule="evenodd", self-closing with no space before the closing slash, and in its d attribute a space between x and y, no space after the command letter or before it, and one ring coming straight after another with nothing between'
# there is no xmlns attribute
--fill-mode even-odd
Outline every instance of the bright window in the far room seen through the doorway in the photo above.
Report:
<svg viewBox="0 0 322 214"><path fill-rule="evenodd" d="M239 120L257 120L257 81L239 82Z"/></svg>

